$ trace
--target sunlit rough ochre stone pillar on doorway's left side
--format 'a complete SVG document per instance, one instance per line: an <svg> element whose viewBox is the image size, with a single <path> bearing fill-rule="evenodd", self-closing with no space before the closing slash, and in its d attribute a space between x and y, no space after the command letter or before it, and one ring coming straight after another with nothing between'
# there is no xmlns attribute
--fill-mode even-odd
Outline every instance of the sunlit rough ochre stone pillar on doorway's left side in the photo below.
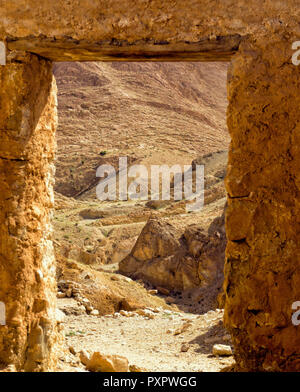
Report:
<svg viewBox="0 0 300 392"><path fill-rule="evenodd" d="M0 67L0 363L55 364L55 261L50 240L56 128L51 63L36 56Z"/></svg>

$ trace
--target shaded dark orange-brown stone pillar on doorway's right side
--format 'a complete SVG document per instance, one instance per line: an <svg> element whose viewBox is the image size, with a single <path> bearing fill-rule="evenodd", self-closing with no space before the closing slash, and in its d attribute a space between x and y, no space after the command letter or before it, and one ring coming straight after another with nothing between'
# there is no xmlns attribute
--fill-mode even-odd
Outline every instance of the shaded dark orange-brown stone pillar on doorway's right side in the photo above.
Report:
<svg viewBox="0 0 300 392"><path fill-rule="evenodd" d="M240 370L300 370L299 107L289 39L243 45L229 72L224 286Z"/></svg>

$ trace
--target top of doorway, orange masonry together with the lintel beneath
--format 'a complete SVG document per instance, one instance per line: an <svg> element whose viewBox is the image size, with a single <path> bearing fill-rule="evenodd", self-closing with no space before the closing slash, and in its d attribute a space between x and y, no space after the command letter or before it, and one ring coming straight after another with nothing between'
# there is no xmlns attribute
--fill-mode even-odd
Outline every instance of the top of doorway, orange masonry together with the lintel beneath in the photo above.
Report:
<svg viewBox="0 0 300 392"><path fill-rule="evenodd" d="M300 35L298 0L0 1L0 39L55 61L229 60L248 35Z"/></svg>

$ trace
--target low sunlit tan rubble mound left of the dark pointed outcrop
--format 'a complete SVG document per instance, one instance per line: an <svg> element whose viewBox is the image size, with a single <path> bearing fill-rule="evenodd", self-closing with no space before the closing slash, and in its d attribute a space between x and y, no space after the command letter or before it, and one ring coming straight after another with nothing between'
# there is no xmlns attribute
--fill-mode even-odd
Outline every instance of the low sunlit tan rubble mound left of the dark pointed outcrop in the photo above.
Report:
<svg viewBox="0 0 300 392"><path fill-rule="evenodd" d="M87 311L90 314L96 310L103 316L121 310L168 308L162 298L151 295L143 285L128 277L97 271L62 256L57 258L57 286L58 298L76 299L81 313ZM74 307L70 311L62 310L73 313Z"/></svg>

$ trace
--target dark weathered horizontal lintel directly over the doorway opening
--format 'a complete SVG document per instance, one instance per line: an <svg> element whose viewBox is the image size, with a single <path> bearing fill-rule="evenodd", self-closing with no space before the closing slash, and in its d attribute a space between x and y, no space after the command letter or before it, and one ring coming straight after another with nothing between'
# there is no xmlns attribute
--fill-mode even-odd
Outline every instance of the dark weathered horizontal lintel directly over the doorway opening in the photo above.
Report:
<svg viewBox="0 0 300 392"><path fill-rule="evenodd" d="M52 61L230 61L243 37L204 38L198 42L110 40L91 42L71 37L7 38L10 51L25 51Z"/></svg>

